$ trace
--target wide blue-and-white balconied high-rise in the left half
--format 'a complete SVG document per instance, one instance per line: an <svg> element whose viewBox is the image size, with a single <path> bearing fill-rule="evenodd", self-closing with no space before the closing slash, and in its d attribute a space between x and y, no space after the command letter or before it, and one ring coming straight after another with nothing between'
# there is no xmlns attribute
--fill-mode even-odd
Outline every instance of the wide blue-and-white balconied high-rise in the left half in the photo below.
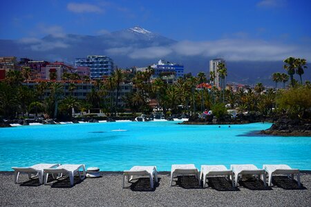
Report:
<svg viewBox="0 0 311 207"><path fill-rule="evenodd" d="M86 58L76 58L75 66L90 68L91 79L103 79L103 76L109 76L113 72L113 59L102 55L88 55Z"/></svg>

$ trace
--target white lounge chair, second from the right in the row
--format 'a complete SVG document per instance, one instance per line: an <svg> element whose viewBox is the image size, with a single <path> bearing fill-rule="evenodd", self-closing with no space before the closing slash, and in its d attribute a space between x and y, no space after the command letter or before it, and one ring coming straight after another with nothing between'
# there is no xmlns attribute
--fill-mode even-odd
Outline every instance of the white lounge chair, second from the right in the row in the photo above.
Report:
<svg viewBox="0 0 311 207"><path fill-rule="evenodd" d="M263 169L258 169L256 166L253 164L243 164L243 165L231 165L230 170L234 172L234 185L238 186L238 179L240 175L254 175L258 176L258 179L263 178L263 185L267 186L265 183L265 170ZM261 176L262 175L262 176Z"/></svg>

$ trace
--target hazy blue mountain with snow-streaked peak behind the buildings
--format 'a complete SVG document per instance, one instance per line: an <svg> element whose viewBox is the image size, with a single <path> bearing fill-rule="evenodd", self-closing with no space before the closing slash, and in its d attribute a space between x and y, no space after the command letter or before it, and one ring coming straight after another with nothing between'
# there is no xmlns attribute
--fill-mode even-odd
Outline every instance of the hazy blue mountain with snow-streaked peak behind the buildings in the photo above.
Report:
<svg viewBox="0 0 311 207"><path fill-rule="evenodd" d="M179 50L184 50L182 53ZM209 73L209 60L216 57L207 55L185 55L196 48L178 48L178 41L163 37L144 28L134 27L102 35L59 34L48 35L42 39L23 38L0 40L0 56L28 57L47 61L66 61L74 63L77 57L86 55L106 55L118 67L148 66L158 59L182 63L185 72L197 75ZM228 81L255 84L258 81L274 86L273 72L285 72L282 61L227 61ZM305 71L303 79L310 79L310 70Z"/></svg>

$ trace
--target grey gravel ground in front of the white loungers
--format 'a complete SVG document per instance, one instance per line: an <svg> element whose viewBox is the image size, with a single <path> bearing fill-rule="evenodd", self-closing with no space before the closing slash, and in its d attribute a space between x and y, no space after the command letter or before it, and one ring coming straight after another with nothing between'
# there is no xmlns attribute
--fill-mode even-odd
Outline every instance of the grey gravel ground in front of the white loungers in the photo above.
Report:
<svg viewBox="0 0 311 207"><path fill-rule="evenodd" d="M160 173L160 184L153 191L122 188L121 172L101 172L102 177L85 179L68 188L66 180L48 186L36 181L14 184L13 172L0 172L0 206L311 206L311 172L301 174L302 190L236 191L213 188L169 186L169 174ZM26 175L21 181L27 181Z"/></svg>

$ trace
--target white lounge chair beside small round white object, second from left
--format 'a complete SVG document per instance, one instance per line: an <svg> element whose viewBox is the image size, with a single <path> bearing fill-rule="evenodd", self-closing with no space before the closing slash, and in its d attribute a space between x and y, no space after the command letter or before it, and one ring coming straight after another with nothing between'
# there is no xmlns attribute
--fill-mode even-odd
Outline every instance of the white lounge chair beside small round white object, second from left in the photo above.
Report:
<svg viewBox="0 0 311 207"><path fill-rule="evenodd" d="M79 169L82 168L83 170L83 175L81 175L81 172ZM70 180L70 186L73 186L73 177L78 173L79 178L83 180L86 177L86 172L85 172L85 165L83 164L64 164L62 166L58 166L57 168L46 168L44 169L44 184L48 182L48 174L51 173L54 177L55 174L60 174L59 177L56 179L59 179L60 177L63 176L63 174L68 175L69 180Z"/></svg>

